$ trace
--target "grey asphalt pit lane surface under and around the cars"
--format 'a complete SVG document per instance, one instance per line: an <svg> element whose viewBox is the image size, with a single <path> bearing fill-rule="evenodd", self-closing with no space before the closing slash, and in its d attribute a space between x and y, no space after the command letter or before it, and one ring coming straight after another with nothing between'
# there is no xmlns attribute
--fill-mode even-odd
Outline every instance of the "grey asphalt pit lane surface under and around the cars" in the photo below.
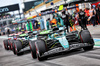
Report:
<svg viewBox="0 0 100 66"><path fill-rule="evenodd" d="M88 26L94 39L100 39L100 25ZM16 56L12 51L6 51L3 47L4 36L0 37L0 66L100 66L100 47L85 52L77 49L70 52L60 53L39 62L32 59L31 53L25 51L23 55Z"/></svg>

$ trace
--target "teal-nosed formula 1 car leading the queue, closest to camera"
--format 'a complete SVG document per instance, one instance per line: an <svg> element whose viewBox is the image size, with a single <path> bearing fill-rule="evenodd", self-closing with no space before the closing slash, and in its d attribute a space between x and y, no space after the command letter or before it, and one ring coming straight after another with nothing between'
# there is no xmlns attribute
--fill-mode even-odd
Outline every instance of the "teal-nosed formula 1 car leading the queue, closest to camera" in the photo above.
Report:
<svg viewBox="0 0 100 66"><path fill-rule="evenodd" d="M55 53L78 48L91 50L94 46L93 38L88 30L66 33L65 29L54 28L53 30L40 32L37 38L38 40L29 43L32 57L38 58L39 61Z"/></svg>

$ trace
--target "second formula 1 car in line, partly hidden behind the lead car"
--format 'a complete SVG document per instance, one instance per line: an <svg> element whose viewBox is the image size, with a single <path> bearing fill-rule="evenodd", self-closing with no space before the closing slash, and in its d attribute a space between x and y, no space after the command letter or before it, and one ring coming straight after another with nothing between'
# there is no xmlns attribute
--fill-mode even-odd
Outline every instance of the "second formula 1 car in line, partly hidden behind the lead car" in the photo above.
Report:
<svg viewBox="0 0 100 66"><path fill-rule="evenodd" d="M19 35L17 39L13 42L13 53L17 55L23 53L23 49L29 47L29 41L32 39L36 39L36 34L37 31L33 31Z"/></svg>

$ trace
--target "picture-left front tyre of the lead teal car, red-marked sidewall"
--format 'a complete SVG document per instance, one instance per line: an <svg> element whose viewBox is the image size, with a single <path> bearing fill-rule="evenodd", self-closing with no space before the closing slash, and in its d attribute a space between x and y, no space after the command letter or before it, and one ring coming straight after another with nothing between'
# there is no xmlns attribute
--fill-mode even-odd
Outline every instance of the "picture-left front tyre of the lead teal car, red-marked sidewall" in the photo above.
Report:
<svg viewBox="0 0 100 66"><path fill-rule="evenodd" d="M45 42L43 40L38 40L35 46L38 60L42 61L47 59L47 57L41 57L42 54L47 51Z"/></svg>

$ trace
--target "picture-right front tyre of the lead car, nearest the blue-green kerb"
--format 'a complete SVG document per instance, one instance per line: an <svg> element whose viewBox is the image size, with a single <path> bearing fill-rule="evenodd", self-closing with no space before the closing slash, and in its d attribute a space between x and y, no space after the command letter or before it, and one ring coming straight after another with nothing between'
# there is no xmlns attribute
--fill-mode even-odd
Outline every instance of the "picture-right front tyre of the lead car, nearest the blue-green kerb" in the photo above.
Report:
<svg viewBox="0 0 100 66"><path fill-rule="evenodd" d="M87 46L87 47L84 47L83 49L85 51L87 50L92 50L93 49L93 46L94 46L94 40L93 38L91 37L91 34L88 30L82 30L80 32L80 39L81 39L81 42L82 43L88 43L88 44L91 44L91 46Z"/></svg>

